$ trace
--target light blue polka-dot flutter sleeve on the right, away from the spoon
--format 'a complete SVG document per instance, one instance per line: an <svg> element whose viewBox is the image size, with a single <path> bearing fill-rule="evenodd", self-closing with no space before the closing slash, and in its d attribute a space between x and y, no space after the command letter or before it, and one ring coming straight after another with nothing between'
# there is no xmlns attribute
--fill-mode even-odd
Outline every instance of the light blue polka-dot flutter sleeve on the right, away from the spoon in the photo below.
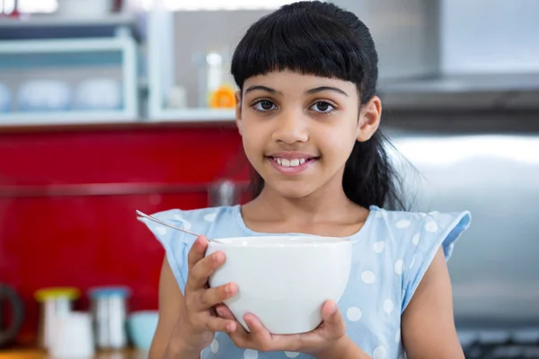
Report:
<svg viewBox="0 0 539 359"><path fill-rule="evenodd" d="M446 261L453 254L455 242L468 229L471 215L461 213L432 212L425 215L419 232L415 233L406 250L404 263L409 263L403 272L402 312L411 301L411 297L420 285L420 281L429 269L437 250L444 250Z"/></svg>

